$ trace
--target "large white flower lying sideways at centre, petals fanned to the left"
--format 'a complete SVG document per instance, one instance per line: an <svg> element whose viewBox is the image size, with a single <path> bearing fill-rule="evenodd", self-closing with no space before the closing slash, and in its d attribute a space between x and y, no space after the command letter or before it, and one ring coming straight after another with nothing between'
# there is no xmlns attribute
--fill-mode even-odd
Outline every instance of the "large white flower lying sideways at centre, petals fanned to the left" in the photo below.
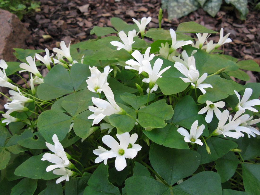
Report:
<svg viewBox="0 0 260 195"><path fill-rule="evenodd" d="M116 104L114 94L110 87L108 87L108 85L103 85L102 89L109 102L97 97L92 97L93 104L97 106L88 107L91 112L94 112L94 114L88 116L88 119L94 119L92 125L98 124L105 116L110 116L111 114L126 114L125 110Z"/></svg>

